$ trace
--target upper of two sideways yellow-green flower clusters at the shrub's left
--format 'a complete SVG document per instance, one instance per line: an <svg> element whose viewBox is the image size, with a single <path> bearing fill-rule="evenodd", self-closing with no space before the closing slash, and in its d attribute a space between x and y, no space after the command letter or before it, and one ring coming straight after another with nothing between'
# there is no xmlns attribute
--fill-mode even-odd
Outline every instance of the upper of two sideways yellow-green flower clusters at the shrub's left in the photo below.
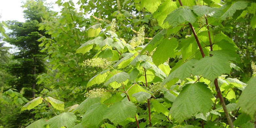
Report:
<svg viewBox="0 0 256 128"><path fill-rule="evenodd" d="M111 61L108 61L103 58L93 58L93 59L87 59L84 61L83 66L91 66L91 67L99 67L102 69L107 68L112 64Z"/></svg>

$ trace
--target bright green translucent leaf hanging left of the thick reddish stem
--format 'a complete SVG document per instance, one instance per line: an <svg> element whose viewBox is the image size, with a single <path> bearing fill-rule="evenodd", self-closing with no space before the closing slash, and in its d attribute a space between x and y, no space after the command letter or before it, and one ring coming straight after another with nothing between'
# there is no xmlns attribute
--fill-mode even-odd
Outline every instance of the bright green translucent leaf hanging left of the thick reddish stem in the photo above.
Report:
<svg viewBox="0 0 256 128"><path fill-rule="evenodd" d="M178 41L175 38L164 39L156 48L152 60L156 66L166 62L168 58L175 58L175 50L178 46Z"/></svg>

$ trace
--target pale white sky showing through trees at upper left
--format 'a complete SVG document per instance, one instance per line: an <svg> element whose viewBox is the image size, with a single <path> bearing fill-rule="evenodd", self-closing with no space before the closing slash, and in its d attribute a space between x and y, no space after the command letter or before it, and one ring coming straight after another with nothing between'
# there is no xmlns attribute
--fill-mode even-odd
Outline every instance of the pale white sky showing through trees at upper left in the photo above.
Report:
<svg viewBox="0 0 256 128"><path fill-rule="evenodd" d="M0 22L1 21L8 21L8 20L17 20L19 22L25 22L25 19L23 17L23 8L21 7L23 5L23 1L25 0L0 0ZM53 10L54 11L60 11L60 8L57 4L55 4L57 0L46 0L46 3L54 3ZM67 0L62 0L67 1ZM78 0L72 0L74 3L76 3ZM10 32L10 30L6 29L6 33ZM14 46L5 43L5 46L13 47L10 49L10 53L17 52L17 49L14 48Z"/></svg>

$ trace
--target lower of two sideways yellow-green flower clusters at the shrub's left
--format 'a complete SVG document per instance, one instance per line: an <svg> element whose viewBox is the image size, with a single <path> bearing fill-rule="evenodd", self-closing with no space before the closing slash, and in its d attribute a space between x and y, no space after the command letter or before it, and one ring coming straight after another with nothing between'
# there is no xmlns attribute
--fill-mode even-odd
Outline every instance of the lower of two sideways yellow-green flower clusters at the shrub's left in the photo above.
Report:
<svg viewBox="0 0 256 128"><path fill-rule="evenodd" d="M106 89L104 88L93 88L92 90L89 90L89 92L85 93L85 97L105 97L108 96L108 92L106 92Z"/></svg>

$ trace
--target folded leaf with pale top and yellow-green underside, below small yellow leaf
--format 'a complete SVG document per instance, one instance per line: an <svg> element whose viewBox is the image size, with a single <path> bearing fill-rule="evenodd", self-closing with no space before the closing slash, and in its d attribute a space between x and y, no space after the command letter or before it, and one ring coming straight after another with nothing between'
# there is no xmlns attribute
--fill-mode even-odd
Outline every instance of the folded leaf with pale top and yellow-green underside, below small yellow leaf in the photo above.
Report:
<svg viewBox="0 0 256 128"><path fill-rule="evenodd" d="M99 45L103 40L104 40L103 37L96 37L93 40L89 40L86 43L84 43L83 45L81 45L76 50L76 53L83 53L83 54L85 54L85 53L89 52L92 49L93 44Z"/></svg>

